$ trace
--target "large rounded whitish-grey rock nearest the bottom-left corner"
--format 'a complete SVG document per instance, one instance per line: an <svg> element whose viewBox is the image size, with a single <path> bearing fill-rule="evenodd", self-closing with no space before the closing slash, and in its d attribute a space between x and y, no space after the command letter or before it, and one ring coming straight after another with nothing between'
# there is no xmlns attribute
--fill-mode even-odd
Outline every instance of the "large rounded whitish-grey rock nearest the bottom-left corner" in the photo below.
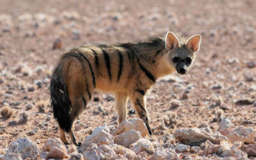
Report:
<svg viewBox="0 0 256 160"><path fill-rule="evenodd" d="M40 150L36 146L36 143L29 138L18 138L18 140L10 143L7 153L20 154L22 159L26 159L27 157L36 159L39 156Z"/></svg>

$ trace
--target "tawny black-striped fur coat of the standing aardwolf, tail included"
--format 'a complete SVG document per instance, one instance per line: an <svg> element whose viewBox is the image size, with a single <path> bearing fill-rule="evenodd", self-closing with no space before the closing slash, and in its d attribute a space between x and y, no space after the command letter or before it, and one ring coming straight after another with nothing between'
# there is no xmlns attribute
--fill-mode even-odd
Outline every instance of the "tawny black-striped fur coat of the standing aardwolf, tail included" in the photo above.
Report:
<svg viewBox="0 0 256 160"><path fill-rule="evenodd" d="M119 123L126 118L129 98L152 134L145 100L147 91L159 77L172 74L178 66L190 68L195 60L191 50L197 49L195 41L186 44L187 39L179 34L178 38L166 37L154 36L133 43L84 45L61 56L52 74L50 92L54 118L58 120L64 143L67 143L65 132L68 132L72 143L78 145L72 124L95 90L116 94ZM180 58L180 63L173 63L175 56ZM191 64L184 62L186 58L191 58Z"/></svg>

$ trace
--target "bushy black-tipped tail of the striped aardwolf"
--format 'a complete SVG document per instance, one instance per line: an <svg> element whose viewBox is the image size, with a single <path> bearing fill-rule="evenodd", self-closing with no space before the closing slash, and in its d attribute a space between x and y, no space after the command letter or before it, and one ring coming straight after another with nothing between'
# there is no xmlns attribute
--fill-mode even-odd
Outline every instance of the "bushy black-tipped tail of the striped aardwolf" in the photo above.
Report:
<svg viewBox="0 0 256 160"><path fill-rule="evenodd" d="M59 64L55 68L51 77L50 93L51 105L53 107L54 118L60 124L61 129L68 132L71 129L70 106L71 101L68 97L67 84L63 73L63 65Z"/></svg>

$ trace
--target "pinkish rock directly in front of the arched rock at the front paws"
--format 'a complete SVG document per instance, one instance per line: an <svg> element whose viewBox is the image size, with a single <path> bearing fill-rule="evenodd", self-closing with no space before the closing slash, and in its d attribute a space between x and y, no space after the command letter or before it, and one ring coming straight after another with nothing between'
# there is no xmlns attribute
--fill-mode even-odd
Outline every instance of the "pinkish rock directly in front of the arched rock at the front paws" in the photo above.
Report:
<svg viewBox="0 0 256 160"><path fill-rule="evenodd" d="M114 142L118 145L129 147L129 145L140 140L140 138L141 138L140 132L131 129L128 132L118 134L117 136L115 136Z"/></svg>

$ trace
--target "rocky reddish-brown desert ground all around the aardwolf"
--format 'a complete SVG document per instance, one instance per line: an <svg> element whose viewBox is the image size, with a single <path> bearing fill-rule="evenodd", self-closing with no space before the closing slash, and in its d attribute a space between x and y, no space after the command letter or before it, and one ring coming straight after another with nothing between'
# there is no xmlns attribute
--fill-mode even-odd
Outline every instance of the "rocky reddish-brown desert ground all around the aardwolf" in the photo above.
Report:
<svg viewBox="0 0 256 160"><path fill-rule="evenodd" d="M0 159L255 157L255 8L253 0L1 0ZM63 145L49 105L61 53L175 30L202 35L202 44L186 76L159 80L147 96L153 136L130 103L118 127L115 97L95 93L74 125L81 147Z"/></svg>

